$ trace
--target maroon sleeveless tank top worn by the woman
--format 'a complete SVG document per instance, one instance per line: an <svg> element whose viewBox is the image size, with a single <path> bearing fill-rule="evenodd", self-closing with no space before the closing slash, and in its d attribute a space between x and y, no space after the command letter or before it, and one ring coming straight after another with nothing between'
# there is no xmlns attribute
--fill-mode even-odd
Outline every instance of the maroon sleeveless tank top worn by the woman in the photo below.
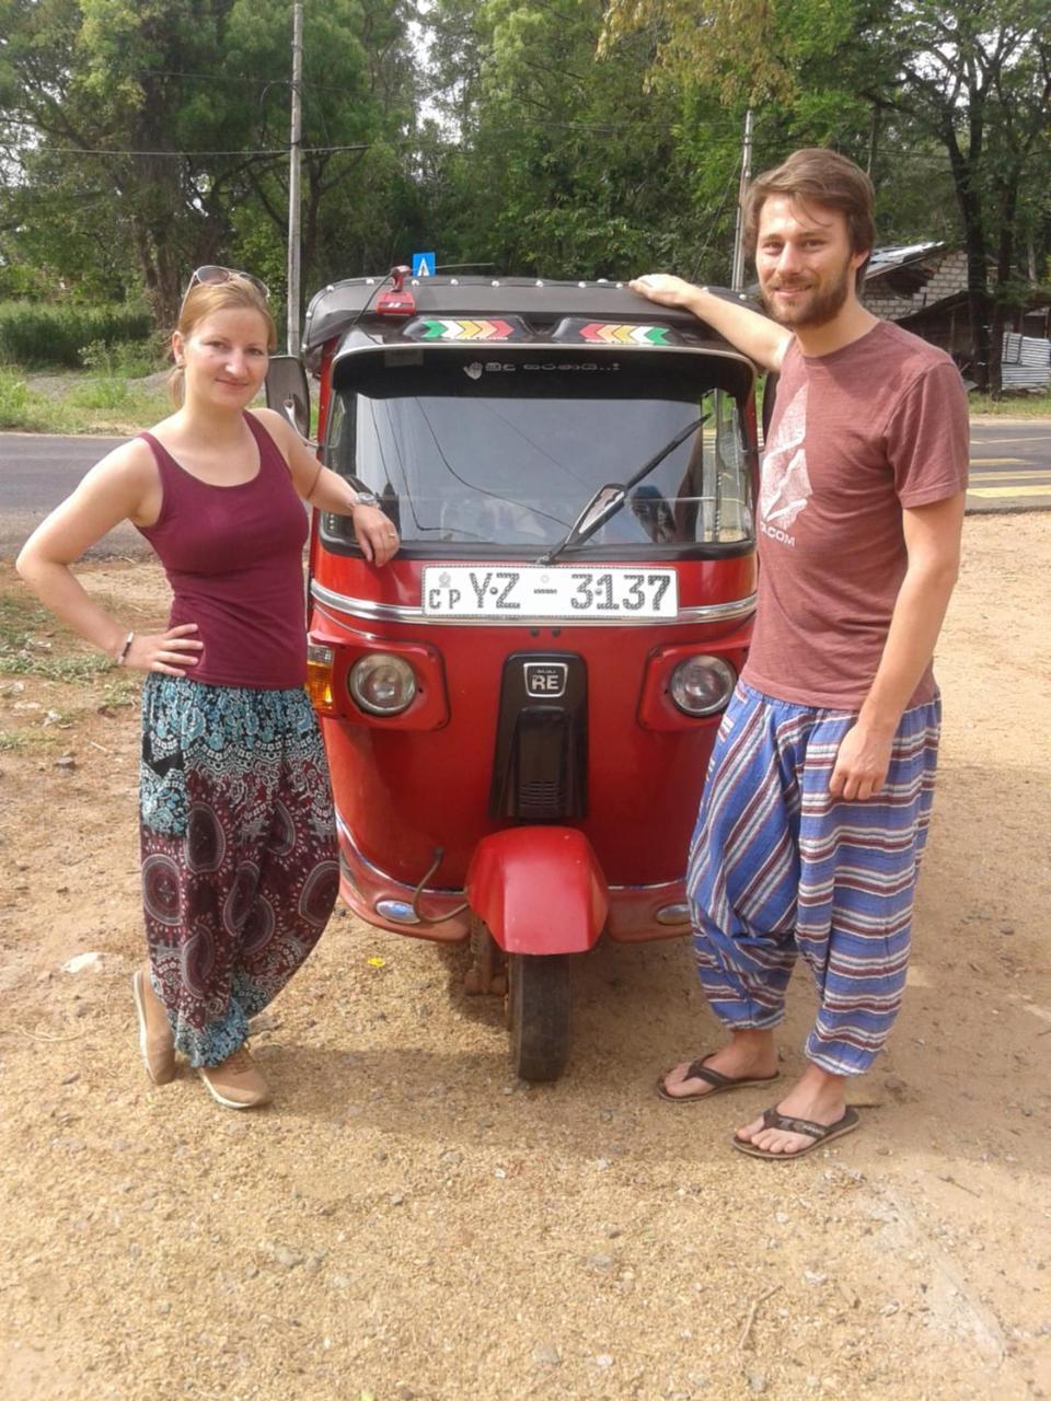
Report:
<svg viewBox="0 0 1051 1401"><path fill-rule="evenodd" d="M307 513L270 434L251 413L245 422L259 444L259 471L237 486L209 486L151 433L139 434L153 450L163 492L156 524L139 530L171 584L168 626L195 622L205 643L186 675L280 691L307 679Z"/></svg>

